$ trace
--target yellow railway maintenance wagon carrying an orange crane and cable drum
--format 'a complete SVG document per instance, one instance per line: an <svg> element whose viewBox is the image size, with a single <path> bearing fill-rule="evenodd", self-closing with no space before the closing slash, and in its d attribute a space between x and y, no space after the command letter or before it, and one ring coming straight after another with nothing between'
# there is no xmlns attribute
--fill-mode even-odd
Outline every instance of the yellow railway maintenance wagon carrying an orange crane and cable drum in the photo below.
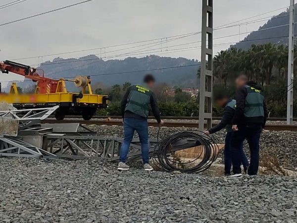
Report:
<svg viewBox="0 0 297 223"><path fill-rule="evenodd" d="M2 73L13 72L37 82L35 94L20 94L16 83L12 83L9 94L0 93L0 101L12 104L17 109L47 108L59 106L55 118L64 119L65 115L81 115L90 120L98 108L107 108L108 96L92 93L90 77L77 76L73 80L50 79L40 76L35 68L12 61L0 62ZM82 88L82 93L67 92L65 81L74 82Z"/></svg>

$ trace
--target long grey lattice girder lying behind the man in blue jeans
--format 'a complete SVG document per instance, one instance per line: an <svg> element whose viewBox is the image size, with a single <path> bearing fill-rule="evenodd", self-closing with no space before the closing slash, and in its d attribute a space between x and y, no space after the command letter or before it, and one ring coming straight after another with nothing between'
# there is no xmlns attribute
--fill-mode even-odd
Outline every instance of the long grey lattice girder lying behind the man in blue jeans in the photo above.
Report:
<svg viewBox="0 0 297 223"><path fill-rule="evenodd" d="M48 135L48 149L50 153L59 158L70 159L95 159L102 161L119 160L120 147L124 138L113 136L97 135ZM149 139L150 157L153 155L157 139ZM198 146L193 139L180 140L172 145L172 152ZM128 159L141 159L141 143L138 138L132 140Z"/></svg>

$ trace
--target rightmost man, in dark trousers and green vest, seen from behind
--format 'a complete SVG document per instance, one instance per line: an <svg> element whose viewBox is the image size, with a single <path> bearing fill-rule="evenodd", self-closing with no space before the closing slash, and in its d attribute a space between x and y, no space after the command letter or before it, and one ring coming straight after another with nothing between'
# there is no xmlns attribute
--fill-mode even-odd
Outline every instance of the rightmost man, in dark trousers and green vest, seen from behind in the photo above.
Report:
<svg viewBox="0 0 297 223"><path fill-rule="evenodd" d="M240 75L236 79L236 110L233 118L231 153L233 176L241 176L241 144L245 139L250 150L248 175L256 175L259 168L259 140L265 127L267 109L264 103L261 86L248 81L247 76Z"/></svg>

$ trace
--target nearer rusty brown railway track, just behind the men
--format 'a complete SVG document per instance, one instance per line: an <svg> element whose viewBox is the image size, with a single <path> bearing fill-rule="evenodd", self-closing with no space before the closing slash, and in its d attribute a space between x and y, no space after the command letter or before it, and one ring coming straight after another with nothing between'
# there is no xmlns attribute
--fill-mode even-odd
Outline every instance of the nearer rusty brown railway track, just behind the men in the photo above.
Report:
<svg viewBox="0 0 297 223"><path fill-rule="evenodd" d="M81 120L81 119L64 119L64 120L55 120L55 119L46 119L43 120L43 123L80 123L80 124L87 124L87 125L123 125L121 121L111 120ZM157 122L148 122L149 126L159 126ZM212 124L213 126L216 123ZM165 127L189 127L189 128L198 128L198 122L166 122L164 123ZM204 125L206 128L206 124ZM266 130L271 131L297 131L297 125L282 125L282 124L270 124L266 125Z"/></svg>

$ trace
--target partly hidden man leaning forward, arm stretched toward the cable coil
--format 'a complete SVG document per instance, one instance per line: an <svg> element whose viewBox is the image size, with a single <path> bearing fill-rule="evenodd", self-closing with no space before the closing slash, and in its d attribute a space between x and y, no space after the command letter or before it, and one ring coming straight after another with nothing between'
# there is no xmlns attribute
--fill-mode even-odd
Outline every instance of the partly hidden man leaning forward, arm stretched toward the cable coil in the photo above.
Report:
<svg viewBox="0 0 297 223"><path fill-rule="evenodd" d="M231 139L233 137L232 131L232 119L236 109L236 101L230 99L227 95L221 94L215 97L215 103L220 107L224 108L223 117L219 124L215 125L214 127L208 129L204 133L206 135L213 134L226 128L227 134L225 138L225 148L224 148L224 164L225 164L225 176L231 176L231 166L232 166L232 159L231 159ZM242 164L244 166L245 171L248 167L248 160L247 156L243 149L243 143L240 145L240 154Z"/></svg>

